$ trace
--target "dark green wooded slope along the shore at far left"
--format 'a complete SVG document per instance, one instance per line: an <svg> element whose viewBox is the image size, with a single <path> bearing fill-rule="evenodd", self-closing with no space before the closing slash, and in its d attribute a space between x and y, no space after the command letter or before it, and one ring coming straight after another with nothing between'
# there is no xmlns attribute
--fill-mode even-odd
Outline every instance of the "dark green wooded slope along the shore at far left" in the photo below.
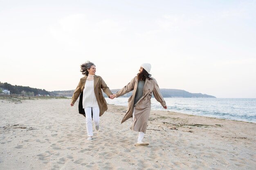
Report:
<svg viewBox="0 0 256 170"><path fill-rule="evenodd" d="M38 88L31 88L29 86L13 86L8 83L1 83L0 87L7 88L11 94L16 95L27 95L27 96L34 96L34 95L50 95L48 91L45 89L38 89Z"/></svg>

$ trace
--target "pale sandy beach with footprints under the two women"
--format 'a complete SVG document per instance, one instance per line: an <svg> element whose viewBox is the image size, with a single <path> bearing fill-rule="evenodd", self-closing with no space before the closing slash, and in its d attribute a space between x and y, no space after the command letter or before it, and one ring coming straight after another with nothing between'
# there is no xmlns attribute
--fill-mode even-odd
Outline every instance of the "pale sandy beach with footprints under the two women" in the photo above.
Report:
<svg viewBox="0 0 256 170"><path fill-rule="evenodd" d="M125 112L108 105L88 141L78 102L0 100L0 170L255 170L254 123L151 110L136 147Z"/></svg>

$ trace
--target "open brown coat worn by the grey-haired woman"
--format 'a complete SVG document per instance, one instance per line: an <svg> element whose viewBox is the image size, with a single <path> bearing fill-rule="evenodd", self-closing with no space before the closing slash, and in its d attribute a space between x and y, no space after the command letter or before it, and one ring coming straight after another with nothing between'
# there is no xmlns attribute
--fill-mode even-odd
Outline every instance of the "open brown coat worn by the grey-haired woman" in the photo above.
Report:
<svg viewBox="0 0 256 170"><path fill-rule="evenodd" d="M72 104L76 102L81 92L83 92L87 77L88 76L86 75L80 79L79 84L77 85L76 90L72 96ZM101 78L101 76L94 75L94 93L99 105L99 116L103 115L103 113L106 110L108 110L108 105L105 98L103 97L101 89L104 93L108 95L108 97L112 94L112 92L110 91L104 80Z"/></svg>

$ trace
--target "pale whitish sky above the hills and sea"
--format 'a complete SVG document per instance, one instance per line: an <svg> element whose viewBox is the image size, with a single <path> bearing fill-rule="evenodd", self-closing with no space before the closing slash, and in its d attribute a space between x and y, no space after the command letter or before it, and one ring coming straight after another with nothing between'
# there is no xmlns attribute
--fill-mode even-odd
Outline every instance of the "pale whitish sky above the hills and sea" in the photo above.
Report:
<svg viewBox="0 0 256 170"><path fill-rule="evenodd" d="M0 82L110 89L151 63L160 88L256 98L256 0L0 0Z"/></svg>

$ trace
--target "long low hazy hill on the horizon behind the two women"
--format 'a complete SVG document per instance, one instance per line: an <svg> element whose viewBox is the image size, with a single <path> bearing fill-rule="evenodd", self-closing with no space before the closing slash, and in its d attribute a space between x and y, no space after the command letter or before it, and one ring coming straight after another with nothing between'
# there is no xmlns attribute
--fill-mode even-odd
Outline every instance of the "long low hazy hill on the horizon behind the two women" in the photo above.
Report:
<svg viewBox="0 0 256 170"><path fill-rule="evenodd" d="M116 93L120 89L112 89L112 93ZM51 93L56 95L56 96L65 96L65 97L72 97L73 93L75 90L70 90L70 91L52 91ZM168 97L184 97L184 98L216 98L211 95L206 95L202 93L189 93L184 90L178 90L178 89L166 89L166 88L160 88L160 92L163 95L163 97L168 98ZM132 91L121 96L121 97L130 97L132 95ZM107 97L105 93L103 93L104 97Z"/></svg>

